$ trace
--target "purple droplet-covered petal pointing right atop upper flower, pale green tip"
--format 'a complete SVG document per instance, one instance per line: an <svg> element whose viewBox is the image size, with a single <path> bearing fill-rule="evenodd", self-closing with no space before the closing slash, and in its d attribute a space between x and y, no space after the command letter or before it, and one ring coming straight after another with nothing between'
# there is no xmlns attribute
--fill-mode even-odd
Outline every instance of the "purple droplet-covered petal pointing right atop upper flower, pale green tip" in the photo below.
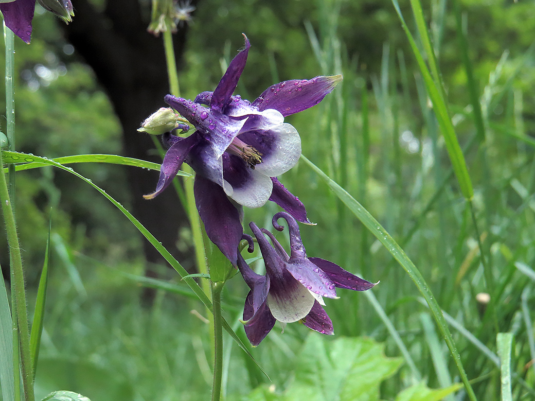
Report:
<svg viewBox="0 0 535 401"><path fill-rule="evenodd" d="M275 109L286 117L321 102L341 80L341 75L334 75L280 82L266 89L253 102L253 106L260 111Z"/></svg>

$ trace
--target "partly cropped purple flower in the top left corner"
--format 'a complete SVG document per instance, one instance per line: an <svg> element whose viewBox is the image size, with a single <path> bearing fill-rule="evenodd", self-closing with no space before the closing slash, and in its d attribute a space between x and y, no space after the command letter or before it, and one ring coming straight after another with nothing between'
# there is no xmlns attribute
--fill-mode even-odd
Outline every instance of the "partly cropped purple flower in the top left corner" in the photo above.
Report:
<svg viewBox="0 0 535 401"><path fill-rule="evenodd" d="M38 0L47 11L56 14L67 24L72 21L74 11L71 0ZM24 42L30 43L32 36L32 20L35 11L35 0L14 0L0 3L0 11L4 16L5 25Z"/></svg>

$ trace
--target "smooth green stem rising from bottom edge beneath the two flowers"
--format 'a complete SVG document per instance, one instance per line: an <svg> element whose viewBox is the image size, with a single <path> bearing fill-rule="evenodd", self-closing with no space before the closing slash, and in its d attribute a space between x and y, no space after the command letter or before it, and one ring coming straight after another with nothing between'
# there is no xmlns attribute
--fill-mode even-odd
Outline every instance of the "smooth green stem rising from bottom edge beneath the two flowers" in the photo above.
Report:
<svg viewBox="0 0 535 401"><path fill-rule="evenodd" d="M225 282L212 282L212 311L214 331L214 359L213 359L213 385L212 401L221 398L221 377L223 375L223 326L221 319L221 290Z"/></svg>

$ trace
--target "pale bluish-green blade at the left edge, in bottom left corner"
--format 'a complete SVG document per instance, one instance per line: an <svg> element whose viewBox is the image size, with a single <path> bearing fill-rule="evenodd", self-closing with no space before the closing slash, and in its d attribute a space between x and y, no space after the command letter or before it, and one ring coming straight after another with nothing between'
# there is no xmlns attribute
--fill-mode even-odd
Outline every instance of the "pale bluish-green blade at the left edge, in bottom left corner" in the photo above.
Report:
<svg viewBox="0 0 535 401"><path fill-rule="evenodd" d="M15 398L13 381L13 322L5 282L0 280L0 387L2 399Z"/></svg>

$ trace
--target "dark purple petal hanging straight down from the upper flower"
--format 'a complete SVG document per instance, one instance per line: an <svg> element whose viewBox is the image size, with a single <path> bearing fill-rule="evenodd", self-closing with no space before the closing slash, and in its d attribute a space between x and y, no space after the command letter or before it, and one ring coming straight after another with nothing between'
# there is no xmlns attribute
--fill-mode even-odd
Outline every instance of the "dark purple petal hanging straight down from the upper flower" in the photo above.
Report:
<svg viewBox="0 0 535 401"><path fill-rule="evenodd" d="M236 266L238 245L243 234L240 212L227 198L223 188L201 175L195 177L193 191L208 238Z"/></svg>

